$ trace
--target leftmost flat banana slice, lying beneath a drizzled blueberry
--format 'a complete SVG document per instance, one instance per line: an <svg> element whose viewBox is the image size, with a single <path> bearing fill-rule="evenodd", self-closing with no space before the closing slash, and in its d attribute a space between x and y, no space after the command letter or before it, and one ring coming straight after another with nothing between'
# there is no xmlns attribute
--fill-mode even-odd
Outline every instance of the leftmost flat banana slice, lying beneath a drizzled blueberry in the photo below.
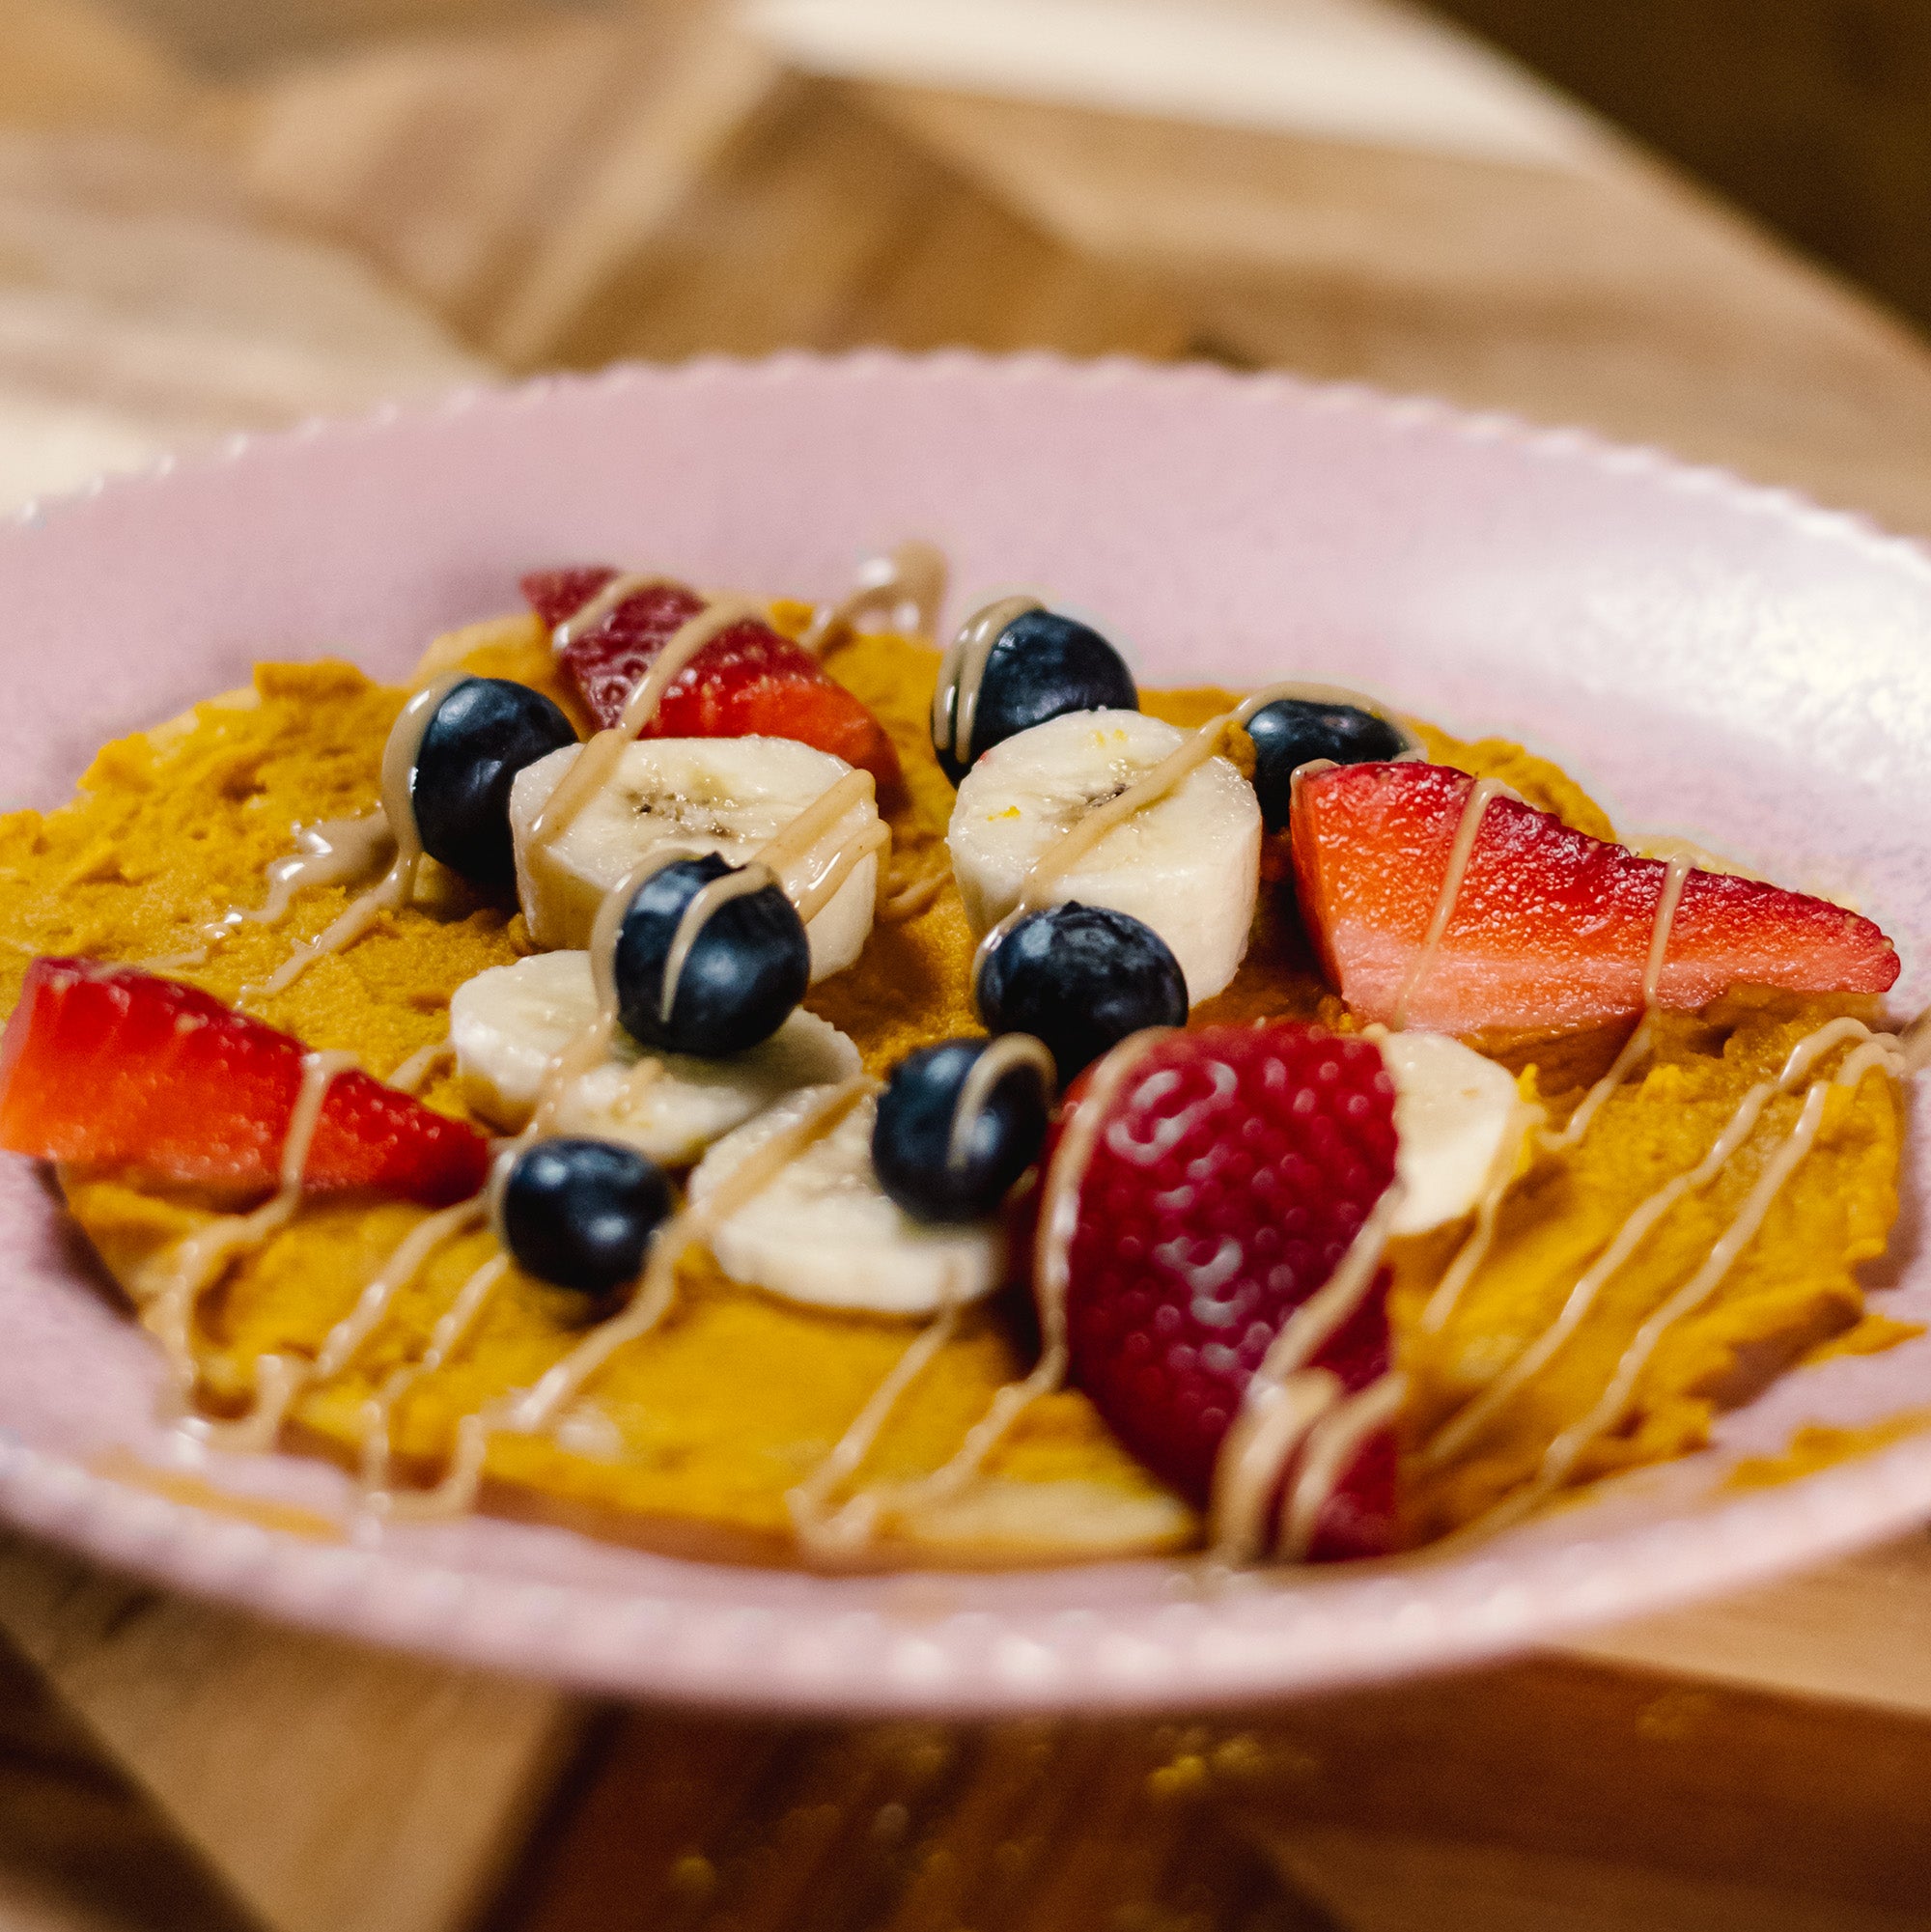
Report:
<svg viewBox="0 0 1931 1932"><path fill-rule="evenodd" d="M465 980L450 1001L450 1043L469 1103L516 1132L529 1121L550 1059L597 1018L587 952L537 952ZM743 1126L801 1086L846 1080L857 1047L799 1009L770 1039L728 1061L666 1053L641 1066L624 1032L610 1057L572 1082L556 1113L560 1134L622 1140L664 1167L687 1167L713 1140Z"/></svg>

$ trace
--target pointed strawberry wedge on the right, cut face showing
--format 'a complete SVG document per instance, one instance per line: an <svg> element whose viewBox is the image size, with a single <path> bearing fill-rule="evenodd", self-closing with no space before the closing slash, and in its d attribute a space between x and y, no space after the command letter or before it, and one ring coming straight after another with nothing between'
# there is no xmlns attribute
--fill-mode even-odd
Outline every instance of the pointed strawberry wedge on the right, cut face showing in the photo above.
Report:
<svg viewBox="0 0 1931 1932"><path fill-rule="evenodd" d="M1329 980L1365 1020L1392 1020L1475 781L1446 765L1340 765L1294 804L1301 918ZM1493 798L1406 1022L1439 1034L1556 1032L1628 1018L1668 867L1512 798ZM1865 918L1757 879L1692 871L1657 985L1703 1007L1732 985L1883 993L1898 954Z"/></svg>

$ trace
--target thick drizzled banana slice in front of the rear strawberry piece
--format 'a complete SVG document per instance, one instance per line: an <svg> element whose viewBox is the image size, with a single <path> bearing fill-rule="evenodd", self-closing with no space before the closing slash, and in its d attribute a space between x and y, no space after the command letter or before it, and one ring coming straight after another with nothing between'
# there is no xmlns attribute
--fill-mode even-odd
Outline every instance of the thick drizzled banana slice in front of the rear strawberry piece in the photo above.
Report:
<svg viewBox="0 0 1931 1932"><path fill-rule="evenodd" d="M518 773L510 790L516 891L539 947L589 945L604 893L666 842L693 856L720 852L742 866L852 767L794 738L645 738L628 746L616 775L541 852L529 829L581 746L566 746ZM826 835L830 852L879 821L854 806ZM879 858L867 856L805 927L811 978L850 966L871 933Z"/></svg>

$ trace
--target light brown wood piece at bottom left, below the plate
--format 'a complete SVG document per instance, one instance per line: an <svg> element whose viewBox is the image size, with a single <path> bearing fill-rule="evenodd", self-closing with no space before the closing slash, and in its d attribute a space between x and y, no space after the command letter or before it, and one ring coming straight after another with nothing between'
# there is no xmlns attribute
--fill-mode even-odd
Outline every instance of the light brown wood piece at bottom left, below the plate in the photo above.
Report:
<svg viewBox="0 0 1931 1932"><path fill-rule="evenodd" d="M0 1633L276 1932L467 1924L581 1723L543 1685L280 1629L14 1536Z"/></svg>

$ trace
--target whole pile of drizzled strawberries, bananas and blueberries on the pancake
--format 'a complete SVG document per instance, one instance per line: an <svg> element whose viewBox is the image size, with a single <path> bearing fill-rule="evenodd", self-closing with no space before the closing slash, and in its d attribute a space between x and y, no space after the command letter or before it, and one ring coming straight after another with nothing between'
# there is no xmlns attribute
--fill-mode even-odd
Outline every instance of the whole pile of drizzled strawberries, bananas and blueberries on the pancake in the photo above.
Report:
<svg viewBox="0 0 1931 1932"><path fill-rule="evenodd" d="M794 1308L933 1323L854 1403L859 1434L962 1310L1029 1277L1039 1368L960 1424L960 1457L1064 1370L1213 1534L1238 1492L1261 1548L1361 1557L1402 1540L1386 1242L1477 1221L1485 1242L1543 1119L1531 1076L1464 1041L1898 976L1869 920L1585 837L1427 763L1359 694L1269 686L1191 730L1153 717L1099 632L1029 599L971 616L933 694L956 896L875 945L904 910L888 860L913 808L881 817L900 763L859 697L678 583L597 568L523 589L558 659L535 682L601 730L579 744L535 682L423 686L361 838L394 866L303 949L431 918L419 852L462 875L506 937L454 989L458 1088L438 1099L514 1138L492 1155L193 985L39 958L0 1039L0 1146L230 1206L278 1186L288 1206L305 1146L295 1192L471 1202L487 1267L574 1291L550 1300L585 1333L631 1312L612 1349L649 1331L701 1236L730 1281ZM707 609L722 628L703 641ZM672 663L695 655L647 715L680 632ZM276 914L222 927L255 916ZM1290 927L1327 980L1298 1010L1325 999L1332 1024L1265 999ZM1274 966L1249 958L1257 931ZM881 1051L807 1010L867 968L863 1001L821 1010L861 1036L923 1001L910 1051L904 1028ZM1199 1012L1224 993L1247 1024ZM973 1009L985 1034L960 1036L950 1014ZM842 1482L865 1451L848 1439L821 1470Z"/></svg>

